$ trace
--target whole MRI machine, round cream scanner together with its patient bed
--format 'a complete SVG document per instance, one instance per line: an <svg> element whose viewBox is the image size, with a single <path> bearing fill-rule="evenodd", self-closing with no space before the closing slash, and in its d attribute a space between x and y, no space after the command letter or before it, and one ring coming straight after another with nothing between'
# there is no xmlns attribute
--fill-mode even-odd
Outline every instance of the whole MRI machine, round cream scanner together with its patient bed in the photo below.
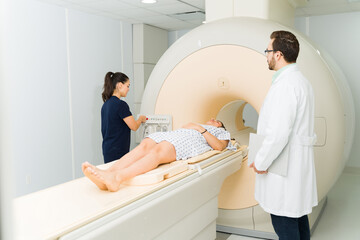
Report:
<svg viewBox="0 0 360 240"><path fill-rule="evenodd" d="M173 129L187 122L218 118L237 142L247 145L249 133L256 130L244 124L244 109L251 105L259 112L261 108L273 74L263 51L270 33L279 29L296 33L272 21L246 17L222 19L192 30L155 66L141 114L171 115ZM316 99L315 164L320 204L310 216L314 226L326 194L348 158L354 109L341 71L326 53L301 34L296 35L301 48L298 65L310 80ZM274 238L268 215L254 199L255 174L244 157L242 151L223 152L155 185L128 186L127 192L97 191L81 178L21 197L14 204L16 237L215 239L217 229ZM63 197L68 195L72 197Z"/></svg>

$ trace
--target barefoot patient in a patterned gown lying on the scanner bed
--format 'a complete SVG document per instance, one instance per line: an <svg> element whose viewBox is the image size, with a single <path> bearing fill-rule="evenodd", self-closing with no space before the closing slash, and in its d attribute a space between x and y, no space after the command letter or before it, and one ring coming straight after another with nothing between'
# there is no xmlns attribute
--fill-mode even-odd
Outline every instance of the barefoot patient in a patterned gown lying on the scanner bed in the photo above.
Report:
<svg viewBox="0 0 360 240"><path fill-rule="evenodd" d="M229 140L230 133L218 120L211 119L205 124L188 123L175 131L150 134L106 170L85 162L82 171L101 190L114 192L119 190L122 182L160 164L188 159L209 150L233 149Z"/></svg>

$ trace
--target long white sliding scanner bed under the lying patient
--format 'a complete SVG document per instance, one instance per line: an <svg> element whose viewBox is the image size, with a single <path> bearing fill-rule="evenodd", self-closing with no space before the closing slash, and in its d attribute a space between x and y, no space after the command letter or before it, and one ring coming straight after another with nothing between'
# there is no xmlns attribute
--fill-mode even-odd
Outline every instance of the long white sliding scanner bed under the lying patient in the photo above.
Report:
<svg viewBox="0 0 360 240"><path fill-rule="evenodd" d="M82 177L16 198L14 239L193 239L200 232L211 239L222 182L239 170L244 155L240 149L215 151L161 165L117 192L101 191ZM190 228L181 233L186 236L180 234L184 227Z"/></svg>

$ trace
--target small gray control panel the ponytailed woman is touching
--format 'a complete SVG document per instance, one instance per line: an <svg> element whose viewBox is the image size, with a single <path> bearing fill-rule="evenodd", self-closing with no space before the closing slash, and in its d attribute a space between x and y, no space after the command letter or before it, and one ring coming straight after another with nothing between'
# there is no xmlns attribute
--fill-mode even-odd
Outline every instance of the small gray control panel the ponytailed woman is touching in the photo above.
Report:
<svg viewBox="0 0 360 240"><path fill-rule="evenodd" d="M139 118L139 115L138 115ZM142 123L136 131L136 143L154 132L167 132L172 130L171 115L146 115L146 122Z"/></svg>

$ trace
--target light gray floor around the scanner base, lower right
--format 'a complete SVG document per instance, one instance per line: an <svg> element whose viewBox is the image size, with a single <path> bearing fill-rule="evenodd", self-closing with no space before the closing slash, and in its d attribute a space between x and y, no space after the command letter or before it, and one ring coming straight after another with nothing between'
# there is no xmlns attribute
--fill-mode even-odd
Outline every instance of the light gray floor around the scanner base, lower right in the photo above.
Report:
<svg viewBox="0 0 360 240"><path fill-rule="evenodd" d="M217 233L216 240L257 238ZM360 240L360 174L344 172L328 193L328 202L312 240Z"/></svg>

